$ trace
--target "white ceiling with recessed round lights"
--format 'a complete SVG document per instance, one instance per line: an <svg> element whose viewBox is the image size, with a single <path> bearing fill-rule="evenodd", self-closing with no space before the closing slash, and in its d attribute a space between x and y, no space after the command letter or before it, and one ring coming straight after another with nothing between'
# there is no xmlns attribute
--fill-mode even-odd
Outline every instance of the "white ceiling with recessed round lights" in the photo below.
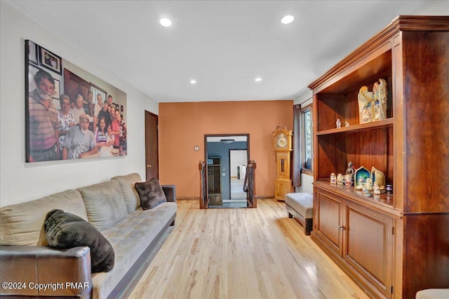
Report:
<svg viewBox="0 0 449 299"><path fill-rule="evenodd" d="M7 1L156 102L294 99L397 15L429 4ZM295 20L283 25L284 15Z"/></svg>

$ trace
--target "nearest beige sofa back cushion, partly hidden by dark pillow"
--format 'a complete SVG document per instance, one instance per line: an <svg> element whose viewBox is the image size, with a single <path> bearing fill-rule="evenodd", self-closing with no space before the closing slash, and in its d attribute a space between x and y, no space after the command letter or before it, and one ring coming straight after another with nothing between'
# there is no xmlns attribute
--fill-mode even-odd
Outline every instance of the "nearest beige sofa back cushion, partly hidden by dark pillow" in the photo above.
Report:
<svg viewBox="0 0 449 299"><path fill-rule="evenodd" d="M52 209L64 209L87 220L86 207L77 190L11 204L0 209L0 245L46 246L43 223Z"/></svg>

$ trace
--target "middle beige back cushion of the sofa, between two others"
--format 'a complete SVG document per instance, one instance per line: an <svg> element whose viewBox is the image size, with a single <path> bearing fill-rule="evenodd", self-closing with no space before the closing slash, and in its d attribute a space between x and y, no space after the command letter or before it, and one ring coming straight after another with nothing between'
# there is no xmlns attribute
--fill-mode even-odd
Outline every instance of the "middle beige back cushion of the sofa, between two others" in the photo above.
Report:
<svg viewBox="0 0 449 299"><path fill-rule="evenodd" d="M116 180L78 188L86 206L87 218L98 230L110 228L128 214Z"/></svg>

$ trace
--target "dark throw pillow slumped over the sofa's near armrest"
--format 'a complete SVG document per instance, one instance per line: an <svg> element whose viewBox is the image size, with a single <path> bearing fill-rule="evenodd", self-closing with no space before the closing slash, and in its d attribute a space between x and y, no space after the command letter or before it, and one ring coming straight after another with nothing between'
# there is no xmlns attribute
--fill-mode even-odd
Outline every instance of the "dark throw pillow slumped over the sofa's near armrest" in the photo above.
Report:
<svg viewBox="0 0 449 299"><path fill-rule="evenodd" d="M76 246L91 248L91 272L108 272L114 268L114 249L91 224L60 209L47 213L44 223L48 245L65 249Z"/></svg>

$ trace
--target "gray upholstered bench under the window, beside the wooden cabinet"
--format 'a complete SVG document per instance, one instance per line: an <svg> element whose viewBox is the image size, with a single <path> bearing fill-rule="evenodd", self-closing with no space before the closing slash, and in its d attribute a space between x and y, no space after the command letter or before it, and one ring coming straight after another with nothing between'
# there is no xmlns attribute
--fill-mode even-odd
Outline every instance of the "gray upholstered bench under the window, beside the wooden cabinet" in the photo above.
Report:
<svg viewBox="0 0 449 299"><path fill-rule="evenodd" d="M288 218L295 218L304 230L305 235L310 235L312 219L314 216L314 197L311 193L286 194L286 209Z"/></svg>

